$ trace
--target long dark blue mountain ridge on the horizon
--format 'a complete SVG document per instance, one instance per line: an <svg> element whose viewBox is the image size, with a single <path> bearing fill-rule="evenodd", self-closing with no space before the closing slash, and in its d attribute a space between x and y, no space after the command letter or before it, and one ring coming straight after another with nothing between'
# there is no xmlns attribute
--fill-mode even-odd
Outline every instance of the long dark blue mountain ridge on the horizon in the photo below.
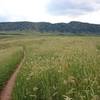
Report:
<svg viewBox="0 0 100 100"><path fill-rule="evenodd" d="M2 31L37 31L58 32L75 34L100 34L99 24L90 24L72 21L70 23L48 23L48 22L1 22Z"/></svg>

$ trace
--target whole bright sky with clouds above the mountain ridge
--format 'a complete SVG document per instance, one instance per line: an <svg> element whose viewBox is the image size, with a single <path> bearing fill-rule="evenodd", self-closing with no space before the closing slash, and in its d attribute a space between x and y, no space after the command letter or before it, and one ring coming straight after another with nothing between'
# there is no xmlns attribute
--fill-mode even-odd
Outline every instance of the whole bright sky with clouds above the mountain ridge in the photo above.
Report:
<svg viewBox="0 0 100 100"><path fill-rule="evenodd" d="M0 0L0 22L100 24L100 0Z"/></svg>

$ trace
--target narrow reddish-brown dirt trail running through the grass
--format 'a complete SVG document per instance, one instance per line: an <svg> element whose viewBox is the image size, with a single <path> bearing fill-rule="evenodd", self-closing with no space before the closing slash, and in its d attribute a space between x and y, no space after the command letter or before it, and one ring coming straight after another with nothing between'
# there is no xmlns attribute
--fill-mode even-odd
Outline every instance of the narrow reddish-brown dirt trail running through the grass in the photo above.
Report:
<svg viewBox="0 0 100 100"><path fill-rule="evenodd" d="M24 62L24 57L23 57L22 61L20 62L20 64L17 66L17 69L15 70L15 72L12 74L10 79L7 81L7 84L5 85L3 90L1 91L0 100L11 100L12 90L15 85L16 77L17 77L17 74L18 74L23 62Z"/></svg>

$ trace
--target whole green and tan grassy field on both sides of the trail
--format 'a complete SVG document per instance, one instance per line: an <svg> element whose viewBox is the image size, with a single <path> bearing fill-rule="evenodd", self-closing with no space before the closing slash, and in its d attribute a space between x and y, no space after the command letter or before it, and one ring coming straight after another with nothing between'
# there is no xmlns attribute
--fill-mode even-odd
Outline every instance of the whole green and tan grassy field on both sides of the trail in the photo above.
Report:
<svg viewBox="0 0 100 100"><path fill-rule="evenodd" d="M7 80L6 75L21 60L23 47L25 60L17 76L12 100L100 99L100 37L0 38L0 88L2 81Z"/></svg>

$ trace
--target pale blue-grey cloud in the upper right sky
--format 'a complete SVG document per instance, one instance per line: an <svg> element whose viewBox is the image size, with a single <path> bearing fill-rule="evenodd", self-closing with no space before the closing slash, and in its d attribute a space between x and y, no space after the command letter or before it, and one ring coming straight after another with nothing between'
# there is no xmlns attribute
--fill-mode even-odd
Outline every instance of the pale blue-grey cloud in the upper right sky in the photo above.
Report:
<svg viewBox="0 0 100 100"><path fill-rule="evenodd" d="M81 15L99 7L100 0L50 0L48 12L52 15Z"/></svg>

